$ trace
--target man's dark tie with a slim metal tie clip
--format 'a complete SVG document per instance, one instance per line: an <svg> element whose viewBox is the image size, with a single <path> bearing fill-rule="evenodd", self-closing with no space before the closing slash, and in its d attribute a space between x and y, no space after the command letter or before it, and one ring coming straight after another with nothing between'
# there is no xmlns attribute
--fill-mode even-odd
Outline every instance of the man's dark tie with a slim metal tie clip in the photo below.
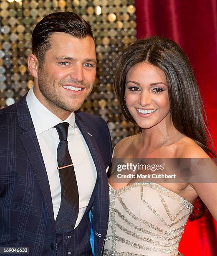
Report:
<svg viewBox="0 0 217 256"><path fill-rule="evenodd" d="M68 151L68 125L59 123L54 126L59 134L57 162L61 183L61 205L56 218L56 232L65 233L74 229L79 211L79 196L76 175Z"/></svg>

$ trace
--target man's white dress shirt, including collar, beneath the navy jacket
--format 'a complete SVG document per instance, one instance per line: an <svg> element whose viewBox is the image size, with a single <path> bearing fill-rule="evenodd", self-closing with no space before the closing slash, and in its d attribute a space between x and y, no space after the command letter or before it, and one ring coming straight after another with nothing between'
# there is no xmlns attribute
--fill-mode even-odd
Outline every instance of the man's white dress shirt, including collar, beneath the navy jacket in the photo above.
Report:
<svg viewBox="0 0 217 256"><path fill-rule="evenodd" d="M62 121L40 103L33 92L33 87L29 90L26 101L48 174L55 220L61 204L61 184L56 169L58 166L56 153L59 136L53 126L62 122L69 123L68 150L74 165L79 194L79 213L76 228L83 217L96 183L96 167L92 156L81 131L75 124L74 113L71 113L66 120Z"/></svg>

